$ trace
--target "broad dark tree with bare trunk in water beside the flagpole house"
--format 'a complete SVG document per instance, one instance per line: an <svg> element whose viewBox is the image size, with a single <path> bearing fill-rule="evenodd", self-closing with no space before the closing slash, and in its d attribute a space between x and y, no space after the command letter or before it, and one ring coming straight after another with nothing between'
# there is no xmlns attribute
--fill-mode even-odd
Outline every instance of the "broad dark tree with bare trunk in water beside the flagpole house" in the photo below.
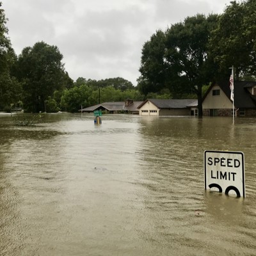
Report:
<svg viewBox="0 0 256 256"><path fill-rule="evenodd" d="M151 36L142 50L140 92L147 95L167 88L173 97L196 93L202 116L202 86L213 79L216 70L208 42L217 19L217 15L198 14Z"/></svg>

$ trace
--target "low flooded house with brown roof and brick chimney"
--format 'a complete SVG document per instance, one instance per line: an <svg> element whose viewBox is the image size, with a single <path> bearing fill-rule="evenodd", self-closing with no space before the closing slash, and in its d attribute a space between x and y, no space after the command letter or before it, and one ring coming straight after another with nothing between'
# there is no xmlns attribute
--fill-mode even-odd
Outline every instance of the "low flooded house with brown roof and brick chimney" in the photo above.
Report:
<svg viewBox="0 0 256 256"><path fill-rule="evenodd" d="M127 99L125 102L104 102L102 104L97 104L88 108L79 109L79 111L91 113L95 110L107 111L110 114L115 113L132 113L137 114L138 106L141 104L142 101L133 101L132 99Z"/></svg>

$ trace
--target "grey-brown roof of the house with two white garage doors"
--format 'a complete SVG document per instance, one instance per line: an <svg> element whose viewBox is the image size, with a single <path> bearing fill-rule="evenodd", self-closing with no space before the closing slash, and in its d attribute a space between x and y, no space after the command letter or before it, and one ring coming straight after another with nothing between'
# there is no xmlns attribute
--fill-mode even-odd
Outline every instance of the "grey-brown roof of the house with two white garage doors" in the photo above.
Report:
<svg viewBox="0 0 256 256"><path fill-rule="evenodd" d="M140 109L148 101L152 102L157 108L189 108L192 106L197 106L197 100L195 99L148 99L143 101L138 109Z"/></svg>

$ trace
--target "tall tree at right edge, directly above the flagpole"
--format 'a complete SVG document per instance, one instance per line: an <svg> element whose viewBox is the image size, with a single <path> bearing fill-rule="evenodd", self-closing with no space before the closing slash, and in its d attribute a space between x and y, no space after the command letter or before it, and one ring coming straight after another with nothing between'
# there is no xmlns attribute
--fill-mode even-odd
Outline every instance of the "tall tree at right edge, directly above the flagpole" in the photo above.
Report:
<svg viewBox="0 0 256 256"><path fill-rule="evenodd" d="M232 1L220 16L209 44L219 79L227 79L232 66L236 80L256 75L255 8L255 0Z"/></svg>

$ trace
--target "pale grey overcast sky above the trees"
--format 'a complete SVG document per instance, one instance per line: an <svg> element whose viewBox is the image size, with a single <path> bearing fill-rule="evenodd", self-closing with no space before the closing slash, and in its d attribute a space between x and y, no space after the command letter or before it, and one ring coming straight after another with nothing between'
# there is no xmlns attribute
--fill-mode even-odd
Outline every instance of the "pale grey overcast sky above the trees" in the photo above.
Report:
<svg viewBox="0 0 256 256"><path fill-rule="evenodd" d="M44 41L69 76L123 77L136 85L141 49L157 29L196 13L223 13L230 0L2 0L16 54Z"/></svg>

